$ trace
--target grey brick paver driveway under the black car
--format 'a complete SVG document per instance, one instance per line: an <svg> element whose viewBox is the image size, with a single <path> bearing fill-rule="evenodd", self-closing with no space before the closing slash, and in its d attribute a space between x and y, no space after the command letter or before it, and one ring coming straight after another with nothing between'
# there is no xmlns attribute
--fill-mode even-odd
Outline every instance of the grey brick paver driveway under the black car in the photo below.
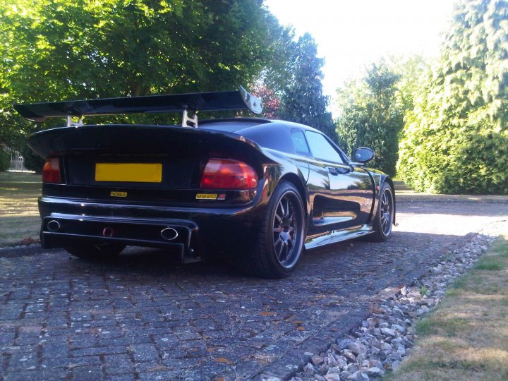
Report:
<svg viewBox="0 0 508 381"><path fill-rule="evenodd" d="M0 380L289 377L506 201L400 200L387 243L306 253L289 279L243 277L131 250L113 263L64 252L0 258Z"/></svg>

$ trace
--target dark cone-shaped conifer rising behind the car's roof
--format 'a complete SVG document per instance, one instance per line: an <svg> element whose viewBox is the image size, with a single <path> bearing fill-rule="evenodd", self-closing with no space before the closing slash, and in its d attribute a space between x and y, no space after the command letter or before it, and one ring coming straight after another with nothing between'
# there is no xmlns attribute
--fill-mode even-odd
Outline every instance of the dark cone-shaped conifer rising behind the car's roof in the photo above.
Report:
<svg viewBox="0 0 508 381"><path fill-rule="evenodd" d="M328 99L322 95L323 63L313 38L308 33L300 37L287 68L291 77L282 94L279 117L315 127L335 139Z"/></svg>

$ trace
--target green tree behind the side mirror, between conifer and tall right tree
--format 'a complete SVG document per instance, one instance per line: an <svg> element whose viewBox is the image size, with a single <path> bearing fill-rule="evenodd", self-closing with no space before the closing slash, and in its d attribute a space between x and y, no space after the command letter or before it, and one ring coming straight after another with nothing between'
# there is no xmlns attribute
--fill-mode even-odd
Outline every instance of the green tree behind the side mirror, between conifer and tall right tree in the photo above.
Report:
<svg viewBox="0 0 508 381"><path fill-rule="evenodd" d="M400 76L385 61L374 63L361 79L337 90L339 141L351 155L356 147L375 150L372 165L394 176L404 109L397 99Z"/></svg>

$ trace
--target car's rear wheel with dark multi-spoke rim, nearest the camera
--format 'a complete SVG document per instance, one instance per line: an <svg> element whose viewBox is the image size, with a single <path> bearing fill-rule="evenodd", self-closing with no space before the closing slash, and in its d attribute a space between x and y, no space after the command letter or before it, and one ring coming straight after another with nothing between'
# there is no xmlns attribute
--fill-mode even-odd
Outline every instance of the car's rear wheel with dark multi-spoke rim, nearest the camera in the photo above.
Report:
<svg viewBox="0 0 508 381"><path fill-rule="evenodd" d="M305 224L306 214L298 190L283 181L270 198L257 245L248 254L243 270L263 278L288 277L303 253Z"/></svg>

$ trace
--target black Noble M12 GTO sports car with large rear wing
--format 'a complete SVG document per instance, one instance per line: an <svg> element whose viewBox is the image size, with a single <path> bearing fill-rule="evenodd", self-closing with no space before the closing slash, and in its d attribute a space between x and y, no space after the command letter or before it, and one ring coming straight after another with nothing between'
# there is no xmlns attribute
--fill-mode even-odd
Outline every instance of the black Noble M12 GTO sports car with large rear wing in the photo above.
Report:
<svg viewBox="0 0 508 381"><path fill-rule="evenodd" d="M17 104L34 121L68 126L32 135L46 159L41 241L80 258L111 258L126 245L181 248L183 261L226 252L243 270L286 277L304 248L368 235L395 222L392 179L352 162L308 126L265 119L191 119L188 111L250 109L240 88L92 101ZM183 111L182 126L85 125L71 116ZM192 125L192 126L189 126Z"/></svg>

